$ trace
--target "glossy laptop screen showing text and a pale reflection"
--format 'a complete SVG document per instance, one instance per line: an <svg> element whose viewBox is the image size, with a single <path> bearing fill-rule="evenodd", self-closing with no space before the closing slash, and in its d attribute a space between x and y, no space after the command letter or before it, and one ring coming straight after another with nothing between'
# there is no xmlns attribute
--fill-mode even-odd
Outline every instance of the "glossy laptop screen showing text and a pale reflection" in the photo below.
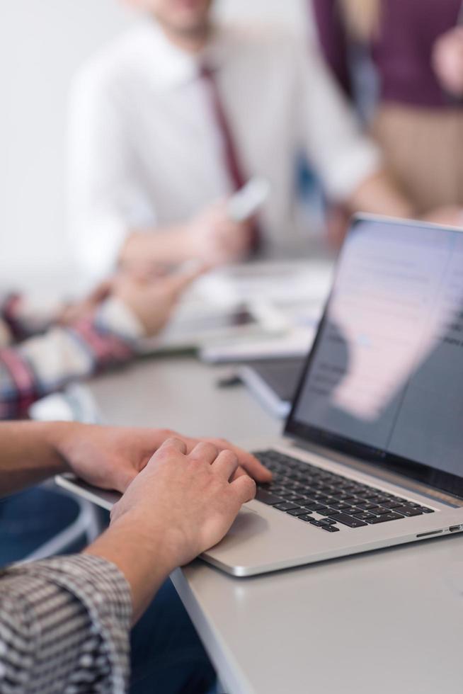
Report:
<svg viewBox="0 0 463 694"><path fill-rule="evenodd" d="M353 222L286 433L463 496L463 233Z"/></svg>

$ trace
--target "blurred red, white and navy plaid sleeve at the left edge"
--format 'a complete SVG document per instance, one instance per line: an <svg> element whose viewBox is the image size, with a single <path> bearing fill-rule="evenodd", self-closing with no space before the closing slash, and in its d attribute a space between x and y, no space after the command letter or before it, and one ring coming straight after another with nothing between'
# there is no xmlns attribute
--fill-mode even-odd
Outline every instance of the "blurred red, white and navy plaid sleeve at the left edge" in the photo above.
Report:
<svg viewBox="0 0 463 694"><path fill-rule="evenodd" d="M142 326L120 300L105 300L96 313L72 326L0 349L0 419L15 419L35 400L130 359Z"/></svg>

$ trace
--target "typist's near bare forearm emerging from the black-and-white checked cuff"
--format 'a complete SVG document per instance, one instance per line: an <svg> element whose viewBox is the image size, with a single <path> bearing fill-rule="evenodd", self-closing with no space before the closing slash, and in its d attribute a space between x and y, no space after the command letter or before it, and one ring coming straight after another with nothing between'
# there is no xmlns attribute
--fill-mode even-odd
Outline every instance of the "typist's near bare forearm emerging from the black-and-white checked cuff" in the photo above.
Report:
<svg viewBox="0 0 463 694"><path fill-rule="evenodd" d="M149 527L142 518L122 516L103 533L86 554L115 564L125 576L132 593L133 622L144 610L161 584L176 568L172 544L166 528Z"/></svg>

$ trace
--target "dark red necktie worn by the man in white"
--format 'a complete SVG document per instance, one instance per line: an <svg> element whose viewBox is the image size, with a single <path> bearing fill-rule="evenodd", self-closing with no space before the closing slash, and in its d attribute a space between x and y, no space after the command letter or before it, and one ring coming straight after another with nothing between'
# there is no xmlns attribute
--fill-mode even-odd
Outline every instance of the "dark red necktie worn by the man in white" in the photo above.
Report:
<svg viewBox="0 0 463 694"><path fill-rule="evenodd" d="M241 167L241 161L236 149L232 130L229 126L227 114L225 113L222 105L222 98L220 97L217 80L215 79L215 72L210 67L203 65L200 67L200 76L205 84L207 84L210 92L215 122L217 123L217 127L220 135L222 136L222 142L224 145L225 165L227 167L230 181L232 182L233 188L236 191L243 188L248 178L244 174ZM256 253L261 246L262 238L257 222L253 224L251 234L251 252Z"/></svg>

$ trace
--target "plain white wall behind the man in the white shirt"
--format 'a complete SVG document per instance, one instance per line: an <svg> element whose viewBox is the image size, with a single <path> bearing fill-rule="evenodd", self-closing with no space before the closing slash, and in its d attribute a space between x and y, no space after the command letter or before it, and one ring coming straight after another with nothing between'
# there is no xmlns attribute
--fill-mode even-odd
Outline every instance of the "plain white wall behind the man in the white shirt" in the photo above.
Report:
<svg viewBox="0 0 463 694"><path fill-rule="evenodd" d="M304 26L307 0L218 0L219 13ZM120 0L3 0L0 9L0 285L67 268L69 81L135 21ZM67 272L67 270L66 270ZM35 282L34 282L35 283Z"/></svg>

